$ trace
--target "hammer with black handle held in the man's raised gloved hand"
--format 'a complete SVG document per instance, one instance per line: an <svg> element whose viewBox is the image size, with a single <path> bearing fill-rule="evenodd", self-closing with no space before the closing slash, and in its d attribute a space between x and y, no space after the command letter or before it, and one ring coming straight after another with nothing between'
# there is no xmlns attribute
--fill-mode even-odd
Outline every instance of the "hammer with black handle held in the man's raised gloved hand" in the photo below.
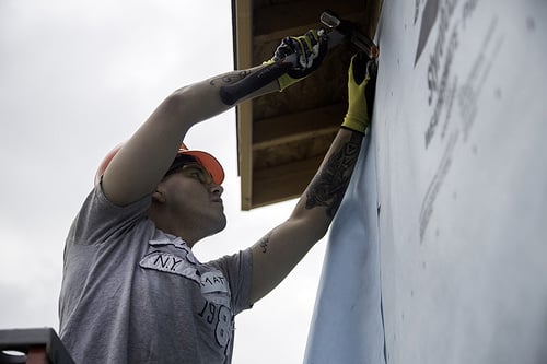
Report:
<svg viewBox="0 0 547 364"><path fill-rule="evenodd" d="M362 34L356 24L341 20L329 10L324 11L319 20L322 24L329 30L327 32L328 49L341 43L350 42L360 50L366 52L369 58L376 59L379 57L377 46L368 36ZM317 33L319 32L326 31L321 28ZM251 73L236 83L221 86L220 98L225 105L233 105L252 92L277 80L294 66L296 66L296 55L293 54L275 63L266 66L257 72Z"/></svg>

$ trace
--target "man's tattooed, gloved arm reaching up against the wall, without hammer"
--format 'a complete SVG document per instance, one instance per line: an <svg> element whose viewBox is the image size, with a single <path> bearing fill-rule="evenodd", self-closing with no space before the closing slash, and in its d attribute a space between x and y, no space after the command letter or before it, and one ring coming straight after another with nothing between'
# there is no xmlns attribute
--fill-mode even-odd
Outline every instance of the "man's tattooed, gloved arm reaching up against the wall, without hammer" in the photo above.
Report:
<svg viewBox="0 0 547 364"><path fill-rule="evenodd" d="M327 233L348 188L372 115L373 64L362 55L352 58L348 72L349 107L342 128L291 216L252 247L252 303L276 287Z"/></svg>

